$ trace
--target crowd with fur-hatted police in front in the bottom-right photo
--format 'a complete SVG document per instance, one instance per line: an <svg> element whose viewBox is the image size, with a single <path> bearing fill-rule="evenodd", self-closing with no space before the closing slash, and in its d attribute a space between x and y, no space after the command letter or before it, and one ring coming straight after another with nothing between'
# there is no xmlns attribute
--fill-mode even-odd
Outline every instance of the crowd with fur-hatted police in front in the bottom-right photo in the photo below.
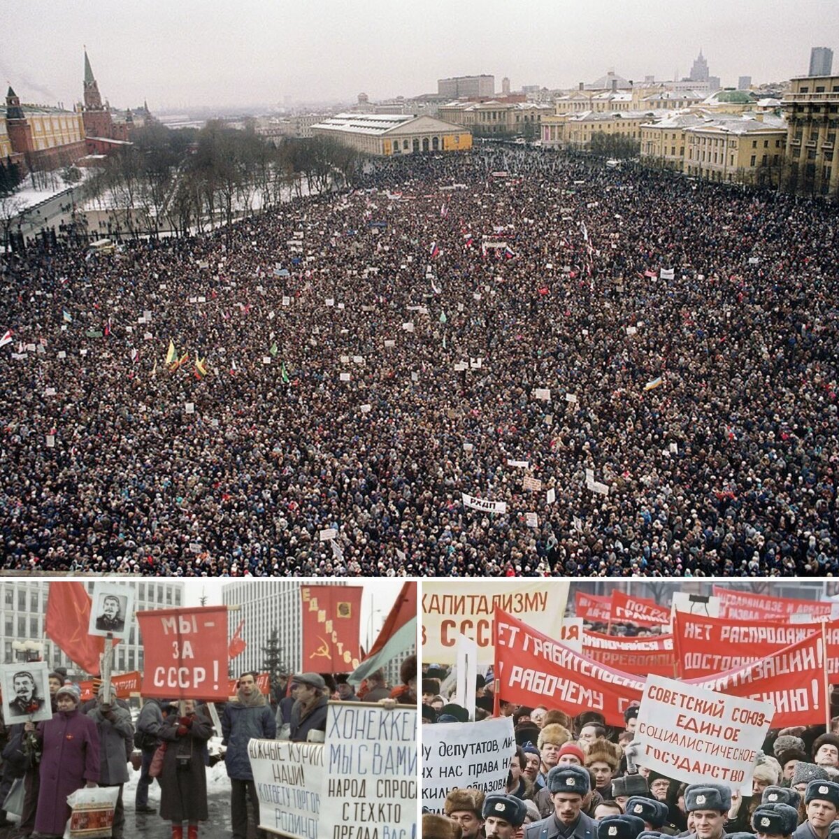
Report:
<svg viewBox="0 0 839 839"><path fill-rule="evenodd" d="M423 722L467 722L464 707L440 696L434 676L445 670L430 667L421 685ZM481 676L476 704L475 720L492 716L492 692ZM424 839L839 836L839 717L830 732L823 726L770 730L745 795L711 779L685 784L638 768L637 706L625 711L623 730L607 727L597 711L571 718L548 706L500 706L513 718L516 741L506 789L488 795L451 789L440 815L423 816Z"/></svg>

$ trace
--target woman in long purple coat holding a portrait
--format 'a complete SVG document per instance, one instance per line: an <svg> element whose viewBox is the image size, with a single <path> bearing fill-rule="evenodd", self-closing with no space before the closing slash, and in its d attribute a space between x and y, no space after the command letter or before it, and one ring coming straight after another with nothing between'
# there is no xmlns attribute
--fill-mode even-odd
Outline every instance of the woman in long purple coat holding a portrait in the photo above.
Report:
<svg viewBox="0 0 839 839"><path fill-rule="evenodd" d="M99 780L99 732L90 717L79 712L78 685L62 685L55 694L58 713L51 720L24 726L41 743L41 786L35 831L43 837L64 836L70 805L67 796Z"/></svg>

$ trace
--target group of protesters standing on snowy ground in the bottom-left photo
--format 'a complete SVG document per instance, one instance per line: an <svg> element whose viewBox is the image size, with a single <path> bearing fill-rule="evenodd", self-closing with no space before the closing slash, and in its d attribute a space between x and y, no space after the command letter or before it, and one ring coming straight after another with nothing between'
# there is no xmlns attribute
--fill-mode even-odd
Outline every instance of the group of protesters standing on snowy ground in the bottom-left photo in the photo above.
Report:
<svg viewBox="0 0 839 839"><path fill-rule="evenodd" d="M65 676L50 673L53 717L49 721L7 727L0 717L0 807L15 779L23 782L18 820L8 821L0 809L0 826L16 824L15 839L57 839L64 836L70 816L68 795L82 787L117 787L113 839L135 835L158 812L171 822L172 839L197 839L200 823L208 818L207 743L213 725L206 706L192 700L152 699L143 703L133 722L128 704L115 697L106 701L101 684L96 699L82 702L79 686L65 681ZM258 690L257 678L256 673L242 673L237 695L224 706L221 731L216 732L231 784L232 839L248 837L248 806L258 839L267 836L256 828L259 801L248 758L252 737L323 743L331 698L414 707L417 703L415 656L402 663L399 685L387 686L382 671L376 671L362 682L358 695L346 674L301 673L290 678L287 695L273 703ZM133 808L137 821L129 827L122 788L128 783L135 747L140 753ZM154 779L160 786L159 810L149 803Z"/></svg>

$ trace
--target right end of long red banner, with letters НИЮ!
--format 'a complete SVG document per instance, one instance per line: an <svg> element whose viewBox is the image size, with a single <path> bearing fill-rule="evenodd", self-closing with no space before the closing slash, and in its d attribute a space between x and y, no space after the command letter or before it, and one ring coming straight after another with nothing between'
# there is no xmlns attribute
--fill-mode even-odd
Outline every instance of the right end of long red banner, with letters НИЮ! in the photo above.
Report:
<svg viewBox="0 0 839 839"><path fill-rule="evenodd" d="M711 679L693 679L690 684L729 696L771 702L775 707L773 728L818 725L830 713L830 696L825 696L821 628L809 638L746 667Z"/></svg>

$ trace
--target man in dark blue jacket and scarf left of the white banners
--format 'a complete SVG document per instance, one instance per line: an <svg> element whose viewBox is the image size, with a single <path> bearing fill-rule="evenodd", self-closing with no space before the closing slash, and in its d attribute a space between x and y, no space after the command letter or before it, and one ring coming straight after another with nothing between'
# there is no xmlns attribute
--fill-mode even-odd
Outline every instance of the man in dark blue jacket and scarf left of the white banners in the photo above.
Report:
<svg viewBox="0 0 839 839"><path fill-rule="evenodd" d="M250 671L242 673L236 700L227 703L221 716L221 743L227 746L224 762L231 787L232 839L247 839L248 795L253 805L254 819L259 825L259 799L248 758L248 741L252 737L273 740L276 733L274 714L257 687L257 674ZM258 829L257 836L265 839L265 831Z"/></svg>

